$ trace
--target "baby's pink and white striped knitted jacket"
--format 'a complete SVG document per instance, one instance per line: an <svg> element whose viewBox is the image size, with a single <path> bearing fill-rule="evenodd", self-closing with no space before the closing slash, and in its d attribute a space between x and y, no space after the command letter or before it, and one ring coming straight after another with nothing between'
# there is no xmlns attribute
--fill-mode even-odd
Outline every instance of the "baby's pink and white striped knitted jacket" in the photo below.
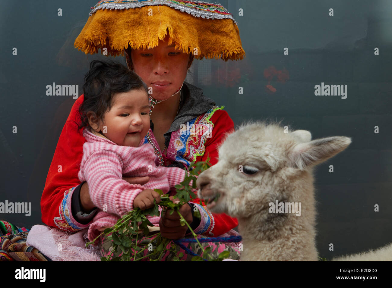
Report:
<svg viewBox="0 0 392 288"><path fill-rule="evenodd" d="M158 188L168 193L184 180L185 170L156 166L154 148L149 143L139 147L120 146L89 129L83 130L83 136L87 142L83 144L78 178L89 183L91 201L100 209L89 226L89 241L101 233L98 229L113 226L133 210L133 201L143 190ZM144 185L129 184L123 176L149 176L150 180ZM147 218L158 226L159 216Z"/></svg>

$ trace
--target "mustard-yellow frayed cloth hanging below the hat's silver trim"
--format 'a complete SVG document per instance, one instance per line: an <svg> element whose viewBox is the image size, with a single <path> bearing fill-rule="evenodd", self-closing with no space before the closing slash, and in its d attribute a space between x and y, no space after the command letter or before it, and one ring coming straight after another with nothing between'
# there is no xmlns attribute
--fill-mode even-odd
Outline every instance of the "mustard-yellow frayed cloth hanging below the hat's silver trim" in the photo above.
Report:
<svg viewBox="0 0 392 288"><path fill-rule="evenodd" d="M159 7L160 11L155 11L154 15L160 16L145 18L150 7ZM238 27L230 19L202 20L167 6L146 6L130 10L134 11L123 9L121 12L114 12L111 9L99 9L89 17L74 46L85 54L98 53L99 49L103 54L102 49L106 48L106 56L125 56L128 47L137 50L151 49L158 46L159 40L169 36L169 45L174 42L175 49L186 54L192 53L198 60L215 58L227 61L242 60L245 57ZM145 25L145 32L138 21ZM214 25L219 23L219 29L211 29L210 21L215 22ZM187 25L190 22L192 27ZM103 25L111 32L103 31ZM132 32L129 33L128 29Z"/></svg>

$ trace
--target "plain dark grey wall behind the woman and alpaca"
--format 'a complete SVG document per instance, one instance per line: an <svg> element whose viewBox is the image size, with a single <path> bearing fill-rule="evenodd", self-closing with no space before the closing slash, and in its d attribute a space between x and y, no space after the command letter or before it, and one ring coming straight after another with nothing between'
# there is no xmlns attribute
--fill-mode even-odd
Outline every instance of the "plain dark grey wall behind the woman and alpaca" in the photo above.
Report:
<svg viewBox="0 0 392 288"><path fill-rule="evenodd" d="M2 3L0 202L32 205L30 217L0 214L2 220L27 228L42 224L40 197L46 174L74 102L72 96L46 96L45 86L79 85L81 94L89 63L104 57L86 56L73 47L95 4ZM238 22L246 57L234 62L195 61L188 81L224 105L236 125L274 118L310 130L313 139L352 137L347 150L315 171L319 254L330 258L392 242L392 2L221 4ZM57 16L58 8L62 16ZM240 8L243 16L238 15ZM334 16L328 15L330 8ZM12 54L13 47L17 55ZM283 54L285 47L289 55ZM374 55L375 47L379 55ZM267 71L278 74L268 80ZM315 96L314 86L321 82L347 85L347 98ZM238 94L238 87L243 87L243 94ZM13 126L18 133L12 132ZM334 165L334 173L328 172L329 165ZM374 211L375 204L379 212ZM330 243L334 251L328 250Z"/></svg>

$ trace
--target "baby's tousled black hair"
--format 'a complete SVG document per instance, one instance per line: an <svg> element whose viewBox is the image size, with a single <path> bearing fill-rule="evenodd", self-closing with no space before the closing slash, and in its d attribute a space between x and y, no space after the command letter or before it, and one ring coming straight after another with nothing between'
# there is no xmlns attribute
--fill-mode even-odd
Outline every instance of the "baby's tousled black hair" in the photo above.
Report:
<svg viewBox="0 0 392 288"><path fill-rule="evenodd" d="M147 85L133 71L113 60L94 60L90 63L90 71L85 74L84 99L79 107L81 123L78 130L89 127L87 112L93 111L103 121L105 112L110 111L115 93L144 89Z"/></svg>

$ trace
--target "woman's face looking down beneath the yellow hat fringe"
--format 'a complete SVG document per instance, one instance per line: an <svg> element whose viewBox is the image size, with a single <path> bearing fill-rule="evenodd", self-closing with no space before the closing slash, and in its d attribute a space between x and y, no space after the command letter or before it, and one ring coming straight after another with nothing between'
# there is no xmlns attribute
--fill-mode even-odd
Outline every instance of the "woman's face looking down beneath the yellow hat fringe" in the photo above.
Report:
<svg viewBox="0 0 392 288"><path fill-rule="evenodd" d="M167 39L167 38L166 38ZM132 49L131 60L134 72L152 87L156 100L165 100L178 92L187 76L189 54L174 49L175 44L159 40L152 49Z"/></svg>

